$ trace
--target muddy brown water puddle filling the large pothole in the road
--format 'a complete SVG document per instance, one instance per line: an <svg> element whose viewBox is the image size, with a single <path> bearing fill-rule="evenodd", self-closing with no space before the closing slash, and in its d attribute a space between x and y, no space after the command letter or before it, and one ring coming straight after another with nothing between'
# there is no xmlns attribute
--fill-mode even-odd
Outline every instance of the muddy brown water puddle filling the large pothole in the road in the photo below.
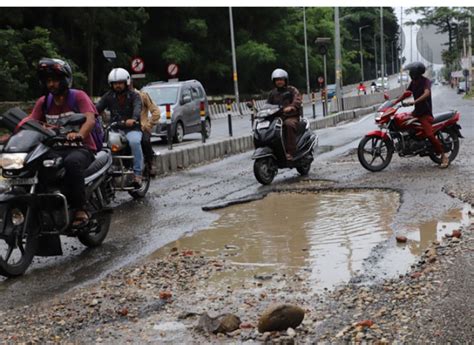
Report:
<svg viewBox="0 0 474 345"><path fill-rule="evenodd" d="M315 291L354 277L388 278L405 273L427 245L459 228L461 218L453 211L447 222L406 229L409 241L398 246L390 224L399 203L398 193L382 190L272 193L217 211L209 228L152 257L178 248L224 258L235 270L213 274L208 284L232 287L265 284L277 272L304 274Z"/></svg>

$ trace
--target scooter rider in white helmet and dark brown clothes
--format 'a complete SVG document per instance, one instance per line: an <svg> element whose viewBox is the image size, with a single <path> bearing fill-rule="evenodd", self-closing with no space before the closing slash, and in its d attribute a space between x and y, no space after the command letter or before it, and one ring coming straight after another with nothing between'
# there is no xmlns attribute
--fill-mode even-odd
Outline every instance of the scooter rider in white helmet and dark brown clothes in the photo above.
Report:
<svg viewBox="0 0 474 345"><path fill-rule="evenodd" d="M285 133L286 159L293 161L296 153L296 132L302 115L302 98L298 89L288 85L288 73L277 68L272 72L275 88L268 95L267 103L283 108L282 120Z"/></svg>

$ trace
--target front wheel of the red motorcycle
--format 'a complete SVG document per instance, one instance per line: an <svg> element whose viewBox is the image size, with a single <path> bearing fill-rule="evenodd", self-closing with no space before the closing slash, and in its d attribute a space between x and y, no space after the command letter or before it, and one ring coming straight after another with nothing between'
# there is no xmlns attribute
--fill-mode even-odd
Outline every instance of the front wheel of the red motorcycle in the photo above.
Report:
<svg viewBox="0 0 474 345"><path fill-rule="evenodd" d="M392 160L393 144L389 139L379 136L365 136L357 148L360 164L372 172L382 171Z"/></svg>

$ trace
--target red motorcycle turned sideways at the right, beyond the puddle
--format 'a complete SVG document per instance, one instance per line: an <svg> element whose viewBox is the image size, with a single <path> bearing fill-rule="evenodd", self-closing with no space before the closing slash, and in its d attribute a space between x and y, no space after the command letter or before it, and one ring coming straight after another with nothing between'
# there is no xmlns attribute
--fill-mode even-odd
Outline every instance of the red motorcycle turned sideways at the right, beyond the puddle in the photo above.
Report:
<svg viewBox="0 0 474 345"><path fill-rule="evenodd" d="M410 91L403 94L404 98L410 96ZM367 170L376 172L385 169L394 152L400 157L429 156L433 162L441 164L441 157L435 153L431 142L423 135L418 119L411 113L396 113L404 106L406 105L403 101L396 105L395 101L387 100L379 107L375 123L380 130L365 135L357 149L359 162ZM459 152L459 138L463 138L461 126L458 124L459 118L459 112L452 110L437 114L432 122L433 132L443 145L444 152L449 155L450 162Z"/></svg>

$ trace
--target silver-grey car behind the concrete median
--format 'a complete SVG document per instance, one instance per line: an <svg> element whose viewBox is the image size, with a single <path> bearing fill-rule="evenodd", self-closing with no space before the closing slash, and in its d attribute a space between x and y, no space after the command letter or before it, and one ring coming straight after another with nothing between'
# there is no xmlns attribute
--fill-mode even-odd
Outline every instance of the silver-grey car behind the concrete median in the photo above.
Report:
<svg viewBox="0 0 474 345"><path fill-rule="evenodd" d="M211 135L211 117L206 91L197 80L177 82L153 82L142 88L161 110L160 123L153 134L167 139L166 105L171 107L171 133L176 143L183 141L186 134L201 132L200 105L205 107L205 136Z"/></svg>

